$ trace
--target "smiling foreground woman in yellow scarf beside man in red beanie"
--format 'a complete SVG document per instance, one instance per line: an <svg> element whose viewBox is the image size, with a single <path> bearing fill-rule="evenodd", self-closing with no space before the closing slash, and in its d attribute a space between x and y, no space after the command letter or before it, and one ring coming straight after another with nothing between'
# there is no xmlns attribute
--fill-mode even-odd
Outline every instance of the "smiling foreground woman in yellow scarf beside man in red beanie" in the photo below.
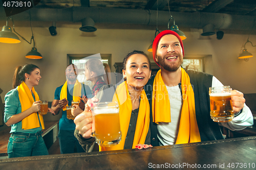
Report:
<svg viewBox="0 0 256 170"><path fill-rule="evenodd" d="M99 151L122 149L146 149L150 145L150 105L148 103L144 85L151 76L151 63L147 55L141 51L133 51L123 59L124 82L115 88L104 85L96 95L99 102L117 101L119 98L119 118L122 138L119 144L113 147L99 147ZM117 95L115 95L117 94ZM88 101L90 107L92 100ZM95 139L91 137L93 119L92 113L86 109L79 114L75 136L83 149L92 152ZM145 144L143 144L145 143Z"/></svg>

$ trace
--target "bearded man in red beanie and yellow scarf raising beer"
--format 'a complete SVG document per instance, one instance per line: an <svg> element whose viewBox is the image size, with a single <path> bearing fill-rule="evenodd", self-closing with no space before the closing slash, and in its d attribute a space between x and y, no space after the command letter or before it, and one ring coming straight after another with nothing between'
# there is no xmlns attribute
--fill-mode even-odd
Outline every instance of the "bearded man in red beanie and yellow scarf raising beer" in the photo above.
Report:
<svg viewBox="0 0 256 170"><path fill-rule="evenodd" d="M235 112L228 123L210 118L209 87L223 86L212 75L187 70L181 64L184 48L180 36L170 30L159 33L153 42L153 58L160 66L144 90L151 106L151 144L170 145L224 139L219 125L242 130L253 125L243 93L232 90Z"/></svg>

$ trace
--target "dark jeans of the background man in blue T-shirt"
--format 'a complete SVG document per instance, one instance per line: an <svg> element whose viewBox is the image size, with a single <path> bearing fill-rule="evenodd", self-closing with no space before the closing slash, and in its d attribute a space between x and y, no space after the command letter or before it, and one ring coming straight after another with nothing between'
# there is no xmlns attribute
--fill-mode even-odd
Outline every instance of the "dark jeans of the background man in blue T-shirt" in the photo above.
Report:
<svg viewBox="0 0 256 170"><path fill-rule="evenodd" d="M59 130L58 138L60 154L74 153L75 146L77 153L86 152L75 137L74 132L75 130Z"/></svg>

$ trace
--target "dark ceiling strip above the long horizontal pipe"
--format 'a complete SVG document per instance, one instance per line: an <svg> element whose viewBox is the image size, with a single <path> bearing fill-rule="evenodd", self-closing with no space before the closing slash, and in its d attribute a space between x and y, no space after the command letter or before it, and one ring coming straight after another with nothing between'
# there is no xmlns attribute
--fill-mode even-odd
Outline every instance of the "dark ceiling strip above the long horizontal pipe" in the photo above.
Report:
<svg viewBox="0 0 256 170"><path fill-rule="evenodd" d="M158 5L157 5L158 4ZM256 15L255 0L41 0L37 8L100 7Z"/></svg>

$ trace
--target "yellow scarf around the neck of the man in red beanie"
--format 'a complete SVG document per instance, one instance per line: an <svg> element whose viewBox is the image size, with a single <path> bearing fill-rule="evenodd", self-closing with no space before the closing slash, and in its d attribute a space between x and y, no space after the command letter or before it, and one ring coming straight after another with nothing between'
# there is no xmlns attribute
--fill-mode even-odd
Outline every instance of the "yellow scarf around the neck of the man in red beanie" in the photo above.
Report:
<svg viewBox="0 0 256 170"><path fill-rule="evenodd" d="M183 104L176 144L200 142L201 138L197 126L194 90L190 84L189 76L183 68L181 68L181 88ZM153 122L157 124L159 122L170 123L168 91L162 80L161 70L157 72L153 84L152 115Z"/></svg>

